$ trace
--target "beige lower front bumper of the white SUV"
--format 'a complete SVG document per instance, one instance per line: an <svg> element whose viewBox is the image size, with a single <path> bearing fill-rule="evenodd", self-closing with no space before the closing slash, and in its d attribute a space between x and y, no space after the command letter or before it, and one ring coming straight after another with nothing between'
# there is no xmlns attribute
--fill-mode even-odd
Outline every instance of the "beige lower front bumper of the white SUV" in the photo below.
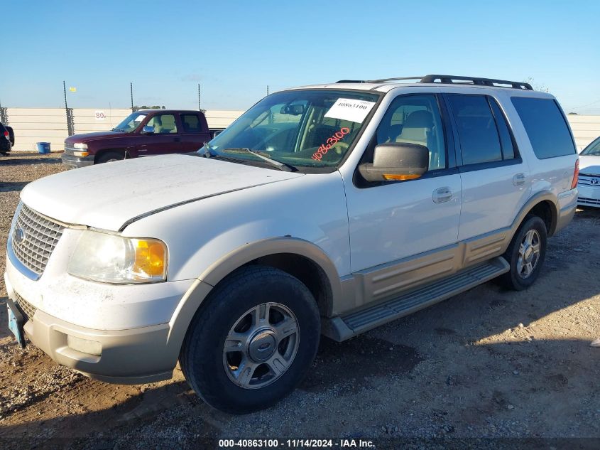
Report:
<svg viewBox="0 0 600 450"><path fill-rule="evenodd" d="M4 282L9 299L26 318L26 337L57 363L97 380L121 384L156 382L173 376L179 350L169 341L169 323L114 331L77 326L36 309L13 289L7 274ZM99 355L71 348L67 336L99 344Z"/></svg>

